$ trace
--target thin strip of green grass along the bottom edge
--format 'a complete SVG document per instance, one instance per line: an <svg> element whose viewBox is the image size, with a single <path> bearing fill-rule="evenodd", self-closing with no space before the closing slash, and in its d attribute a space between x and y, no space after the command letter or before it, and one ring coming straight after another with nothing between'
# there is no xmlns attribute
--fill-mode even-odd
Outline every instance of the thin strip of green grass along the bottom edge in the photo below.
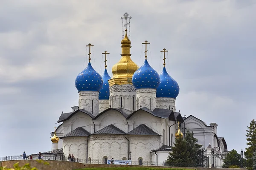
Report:
<svg viewBox="0 0 256 170"><path fill-rule="evenodd" d="M148 168L148 167L95 167L95 168L82 168L78 170L187 170L175 168Z"/></svg>

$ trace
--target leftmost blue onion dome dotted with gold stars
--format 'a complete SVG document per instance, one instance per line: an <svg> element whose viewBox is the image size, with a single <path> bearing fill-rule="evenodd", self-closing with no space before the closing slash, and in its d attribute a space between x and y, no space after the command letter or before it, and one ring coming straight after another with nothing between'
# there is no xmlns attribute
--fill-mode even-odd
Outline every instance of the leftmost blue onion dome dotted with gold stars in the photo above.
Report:
<svg viewBox="0 0 256 170"><path fill-rule="evenodd" d="M89 62L87 67L76 77L78 91L99 91L102 88L102 77L95 71Z"/></svg>

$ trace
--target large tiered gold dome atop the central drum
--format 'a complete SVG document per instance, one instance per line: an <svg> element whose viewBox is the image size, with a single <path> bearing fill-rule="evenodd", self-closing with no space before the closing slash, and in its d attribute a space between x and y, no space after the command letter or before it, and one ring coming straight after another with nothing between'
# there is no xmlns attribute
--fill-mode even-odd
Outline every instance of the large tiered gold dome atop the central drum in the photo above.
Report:
<svg viewBox="0 0 256 170"><path fill-rule="evenodd" d="M122 54L121 59L112 67L113 77L108 80L109 86L112 85L132 85L132 76L139 69L138 65L131 60L131 41L127 36L125 29L125 37L121 41Z"/></svg>

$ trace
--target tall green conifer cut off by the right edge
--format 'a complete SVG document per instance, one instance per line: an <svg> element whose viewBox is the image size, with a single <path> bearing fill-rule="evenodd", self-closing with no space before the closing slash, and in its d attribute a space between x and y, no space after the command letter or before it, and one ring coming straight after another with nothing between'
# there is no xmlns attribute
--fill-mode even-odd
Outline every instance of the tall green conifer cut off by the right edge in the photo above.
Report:
<svg viewBox="0 0 256 170"><path fill-rule="evenodd" d="M253 169L253 151L256 150L256 121L253 119L250 126L247 126L247 148L245 148L244 156L247 159L247 169Z"/></svg>

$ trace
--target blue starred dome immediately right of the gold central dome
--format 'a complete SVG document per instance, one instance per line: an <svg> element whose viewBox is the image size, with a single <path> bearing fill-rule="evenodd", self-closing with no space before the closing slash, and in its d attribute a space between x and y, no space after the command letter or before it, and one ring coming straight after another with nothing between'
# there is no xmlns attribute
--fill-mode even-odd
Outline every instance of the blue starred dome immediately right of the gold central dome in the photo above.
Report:
<svg viewBox="0 0 256 170"><path fill-rule="evenodd" d="M160 77L145 59L144 64L135 71L132 77L132 84L136 89L138 88L157 88L160 84Z"/></svg>

